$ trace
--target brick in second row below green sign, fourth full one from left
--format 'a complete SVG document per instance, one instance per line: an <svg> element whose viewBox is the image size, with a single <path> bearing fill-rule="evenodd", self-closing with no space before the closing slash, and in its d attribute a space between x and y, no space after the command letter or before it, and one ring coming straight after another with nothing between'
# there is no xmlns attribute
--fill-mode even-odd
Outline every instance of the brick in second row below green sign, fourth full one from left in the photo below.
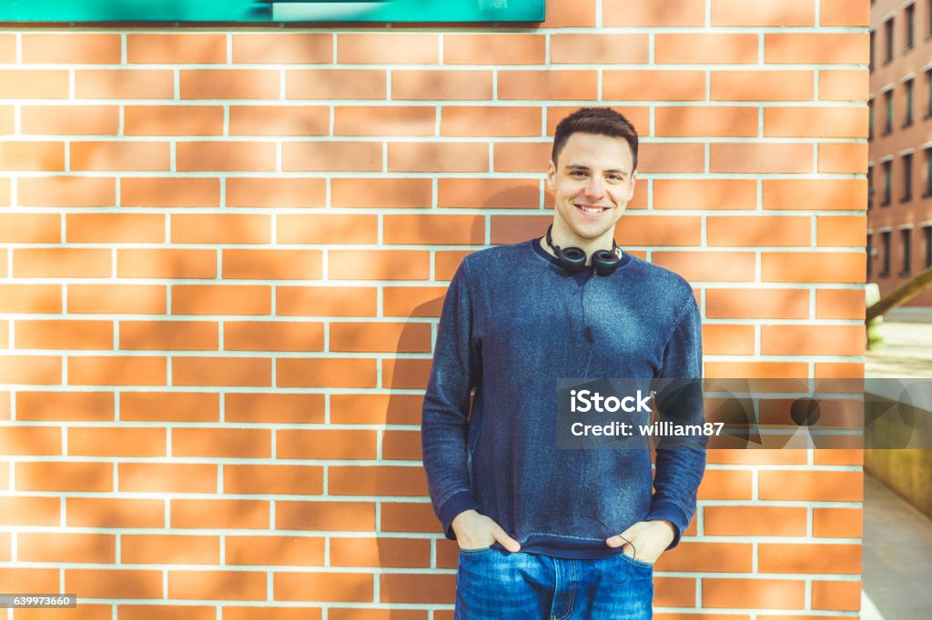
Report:
<svg viewBox="0 0 932 620"><path fill-rule="evenodd" d="M391 99L395 101L491 100L492 72L399 69L391 72ZM337 111L339 110L340 108L337 108ZM426 128L426 122L421 125ZM426 135L432 135L432 133L433 131L430 131ZM406 134L399 132L397 135Z"/></svg>

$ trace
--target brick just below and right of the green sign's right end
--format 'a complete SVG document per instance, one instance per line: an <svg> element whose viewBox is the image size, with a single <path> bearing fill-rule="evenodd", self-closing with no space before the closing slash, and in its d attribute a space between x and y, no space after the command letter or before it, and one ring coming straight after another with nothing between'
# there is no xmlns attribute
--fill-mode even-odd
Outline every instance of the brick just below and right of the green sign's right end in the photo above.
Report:
<svg viewBox="0 0 932 620"><path fill-rule="evenodd" d="M647 34L553 34L553 64L639 64L650 59Z"/></svg>

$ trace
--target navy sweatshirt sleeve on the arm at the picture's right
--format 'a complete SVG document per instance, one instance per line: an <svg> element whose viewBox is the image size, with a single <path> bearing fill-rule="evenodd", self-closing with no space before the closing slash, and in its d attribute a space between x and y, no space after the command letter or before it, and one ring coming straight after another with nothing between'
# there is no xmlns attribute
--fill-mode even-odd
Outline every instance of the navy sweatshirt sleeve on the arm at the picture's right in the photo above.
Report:
<svg viewBox="0 0 932 620"><path fill-rule="evenodd" d="M702 399L702 321L692 290L676 329L666 344L660 379L685 379L676 382L679 390L661 407L663 419L673 424L701 425L705 422ZM667 519L674 526L673 542L679 544L682 532L689 527L696 510L696 492L706 471L705 436L664 440L657 444L654 493L646 520Z"/></svg>

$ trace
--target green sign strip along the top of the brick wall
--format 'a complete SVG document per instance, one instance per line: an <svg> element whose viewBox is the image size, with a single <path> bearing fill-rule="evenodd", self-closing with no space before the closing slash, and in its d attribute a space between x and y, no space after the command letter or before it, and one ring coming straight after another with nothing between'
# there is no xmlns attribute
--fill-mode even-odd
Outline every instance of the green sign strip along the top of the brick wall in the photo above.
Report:
<svg viewBox="0 0 932 620"><path fill-rule="evenodd" d="M545 0L0 0L0 21L543 21Z"/></svg>

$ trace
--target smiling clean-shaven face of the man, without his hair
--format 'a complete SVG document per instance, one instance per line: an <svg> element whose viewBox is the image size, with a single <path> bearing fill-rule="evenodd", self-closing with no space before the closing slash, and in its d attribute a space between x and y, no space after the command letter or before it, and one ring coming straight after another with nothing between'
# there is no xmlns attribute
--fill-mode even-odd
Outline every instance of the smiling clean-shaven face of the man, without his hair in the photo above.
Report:
<svg viewBox="0 0 932 620"><path fill-rule="evenodd" d="M611 236L635 192L631 149L623 138L574 133L547 167L555 194L554 229L573 245Z"/></svg>

